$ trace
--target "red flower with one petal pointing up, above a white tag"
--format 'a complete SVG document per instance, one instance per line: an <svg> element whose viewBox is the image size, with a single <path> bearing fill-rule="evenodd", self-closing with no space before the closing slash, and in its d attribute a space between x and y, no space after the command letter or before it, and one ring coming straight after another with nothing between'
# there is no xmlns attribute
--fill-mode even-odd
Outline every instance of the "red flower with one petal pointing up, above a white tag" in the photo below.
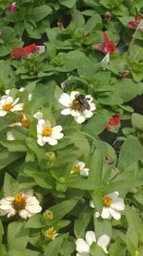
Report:
<svg viewBox="0 0 143 256"><path fill-rule="evenodd" d="M115 44L112 40L110 40L109 36L104 32L104 42L100 44L94 44L93 49L97 50L99 52L102 52L104 54L113 54L115 51Z"/></svg>

